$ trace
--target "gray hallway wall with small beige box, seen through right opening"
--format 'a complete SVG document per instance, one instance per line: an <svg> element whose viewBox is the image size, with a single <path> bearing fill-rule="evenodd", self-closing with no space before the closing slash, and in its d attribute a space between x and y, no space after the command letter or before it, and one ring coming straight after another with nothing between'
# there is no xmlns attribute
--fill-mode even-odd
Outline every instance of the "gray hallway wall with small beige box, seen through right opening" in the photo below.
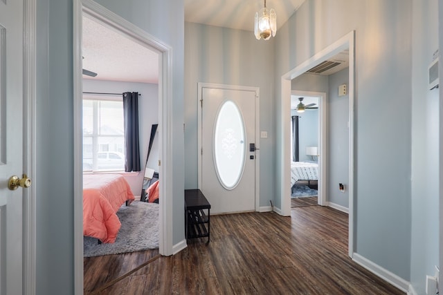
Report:
<svg viewBox="0 0 443 295"><path fill-rule="evenodd" d="M349 207L349 95L338 96L338 86L349 85L349 68L329 75L327 120L327 187L326 200L341 207ZM345 185L342 193L338 184Z"/></svg>

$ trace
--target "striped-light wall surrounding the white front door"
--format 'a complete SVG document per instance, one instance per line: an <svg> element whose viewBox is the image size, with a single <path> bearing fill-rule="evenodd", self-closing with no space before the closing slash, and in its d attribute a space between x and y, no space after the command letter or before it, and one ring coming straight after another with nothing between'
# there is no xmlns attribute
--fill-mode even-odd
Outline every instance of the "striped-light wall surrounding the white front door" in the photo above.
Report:
<svg viewBox="0 0 443 295"><path fill-rule="evenodd" d="M198 187L197 83L260 87L260 206L273 199L274 84L273 44L255 39L253 33L197 23L185 23L185 187Z"/></svg>

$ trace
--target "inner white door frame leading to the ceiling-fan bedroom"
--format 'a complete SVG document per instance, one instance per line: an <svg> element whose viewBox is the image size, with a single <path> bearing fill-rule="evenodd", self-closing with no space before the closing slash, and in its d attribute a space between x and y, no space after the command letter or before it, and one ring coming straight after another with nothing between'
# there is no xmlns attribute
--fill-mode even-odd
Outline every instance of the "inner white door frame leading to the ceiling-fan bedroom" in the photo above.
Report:
<svg viewBox="0 0 443 295"><path fill-rule="evenodd" d="M321 206L326 206L326 180L327 180L327 161L326 161L326 151L327 151L327 96L324 92L315 91L291 91L291 95L298 96L316 96L318 99L318 171L320 171L320 179L318 180L318 204ZM291 194L287 196L291 199ZM289 200L289 202L291 202Z"/></svg>

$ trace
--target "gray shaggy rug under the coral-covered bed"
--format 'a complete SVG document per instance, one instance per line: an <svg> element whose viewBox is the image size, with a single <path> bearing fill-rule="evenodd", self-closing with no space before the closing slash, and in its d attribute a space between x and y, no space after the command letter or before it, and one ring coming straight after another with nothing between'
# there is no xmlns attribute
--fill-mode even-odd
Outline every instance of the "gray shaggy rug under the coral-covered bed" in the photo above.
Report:
<svg viewBox="0 0 443 295"><path fill-rule="evenodd" d="M117 211L122 226L112 244L83 237L84 257L121 254L159 248L159 204L134 201Z"/></svg>

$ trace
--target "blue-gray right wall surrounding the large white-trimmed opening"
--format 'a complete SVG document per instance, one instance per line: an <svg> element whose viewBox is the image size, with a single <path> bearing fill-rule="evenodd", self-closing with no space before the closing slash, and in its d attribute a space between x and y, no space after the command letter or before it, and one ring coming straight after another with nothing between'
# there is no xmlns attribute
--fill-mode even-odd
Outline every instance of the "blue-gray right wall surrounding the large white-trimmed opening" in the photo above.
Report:
<svg viewBox="0 0 443 295"><path fill-rule="evenodd" d="M411 238L411 3L307 0L275 36L275 97L280 100L284 73L356 30L354 250L406 280ZM374 105L383 106L377 108L377 120ZM276 111L280 122L282 114ZM282 134L276 136L280 143ZM281 151L278 144L277 159ZM280 166L277 162L277 177Z"/></svg>

